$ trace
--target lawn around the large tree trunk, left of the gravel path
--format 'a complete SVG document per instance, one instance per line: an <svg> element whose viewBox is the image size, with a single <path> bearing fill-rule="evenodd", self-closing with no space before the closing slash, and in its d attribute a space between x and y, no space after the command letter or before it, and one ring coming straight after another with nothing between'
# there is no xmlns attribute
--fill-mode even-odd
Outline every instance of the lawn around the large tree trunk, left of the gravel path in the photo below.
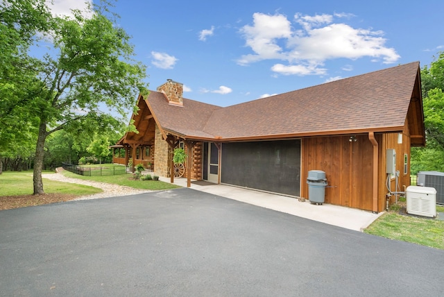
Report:
<svg viewBox="0 0 444 297"><path fill-rule="evenodd" d="M60 193L91 195L102 192L101 189L87 185L60 183L55 180L47 179L43 180L43 187L47 194ZM33 194L32 171L4 171L2 174L0 174L0 196L19 196L31 194Z"/></svg>

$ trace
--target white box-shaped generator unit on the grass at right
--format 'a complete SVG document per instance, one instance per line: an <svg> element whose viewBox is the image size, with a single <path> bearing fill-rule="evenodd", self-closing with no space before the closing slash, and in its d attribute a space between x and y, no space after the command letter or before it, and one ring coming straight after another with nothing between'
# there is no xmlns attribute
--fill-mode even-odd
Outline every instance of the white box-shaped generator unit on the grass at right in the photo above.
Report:
<svg viewBox="0 0 444 297"><path fill-rule="evenodd" d="M433 187L409 186L406 190L407 214L436 217L436 189Z"/></svg>

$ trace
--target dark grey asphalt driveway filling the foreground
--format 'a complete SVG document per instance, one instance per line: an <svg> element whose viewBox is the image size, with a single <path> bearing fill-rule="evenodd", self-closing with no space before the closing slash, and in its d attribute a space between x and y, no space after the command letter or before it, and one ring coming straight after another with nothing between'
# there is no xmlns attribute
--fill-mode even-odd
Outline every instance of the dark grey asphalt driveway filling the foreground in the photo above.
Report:
<svg viewBox="0 0 444 297"><path fill-rule="evenodd" d="M186 188L0 211L0 296L439 296L443 264Z"/></svg>

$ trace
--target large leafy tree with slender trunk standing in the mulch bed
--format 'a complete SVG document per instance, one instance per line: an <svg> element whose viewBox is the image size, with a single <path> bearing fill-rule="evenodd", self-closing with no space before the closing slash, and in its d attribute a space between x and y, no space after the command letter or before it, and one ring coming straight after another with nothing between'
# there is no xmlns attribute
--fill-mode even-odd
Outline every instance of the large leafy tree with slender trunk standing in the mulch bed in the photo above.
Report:
<svg viewBox="0 0 444 297"><path fill-rule="evenodd" d="M106 129L108 121L101 121L105 108L125 115L137 93L147 92L146 69L133 60L130 37L107 14L102 6L73 10L71 17L49 16L47 29L40 31L49 50L35 63L35 92L24 107L38 121L34 194L44 193L46 137L64 128Z"/></svg>

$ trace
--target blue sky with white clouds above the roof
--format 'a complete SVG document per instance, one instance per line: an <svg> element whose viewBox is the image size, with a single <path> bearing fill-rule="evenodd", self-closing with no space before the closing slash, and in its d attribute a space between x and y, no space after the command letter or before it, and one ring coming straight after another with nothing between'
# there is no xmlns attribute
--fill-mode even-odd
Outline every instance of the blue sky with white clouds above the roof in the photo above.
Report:
<svg viewBox="0 0 444 297"><path fill-rule="evenodd" d="M82 8L56 0L53 12ZM444 1L120 0L119 26L155 90L168 78L184 97L228 106L444 51Z"/></svg>

